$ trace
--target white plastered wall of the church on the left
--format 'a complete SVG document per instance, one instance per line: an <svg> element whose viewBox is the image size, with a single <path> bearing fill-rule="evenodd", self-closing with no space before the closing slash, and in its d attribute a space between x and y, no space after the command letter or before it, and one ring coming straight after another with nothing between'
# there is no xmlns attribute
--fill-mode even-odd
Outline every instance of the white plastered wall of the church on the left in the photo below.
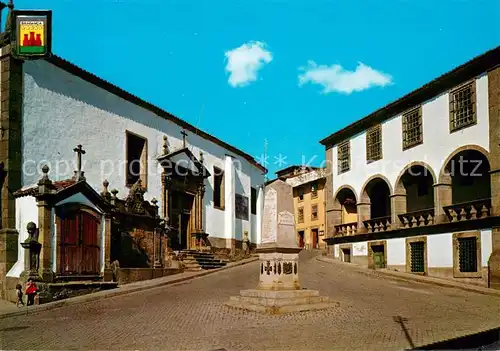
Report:
<svg viewBox="0 0 500 351"><path fill-rule="evenodd" d="M168 135L171 151L182 146L181 127L46 61L27 61L23 67L23 186L40 179L43 164L49 165L52 180L71 177L76 169L73 148L82 144L86 150L83 170L87 182L100 192L102 182L107 179L109 189L118 189L118 197L125 197L128 194L125 131L128 130L148 140L145 198L161 199L161 171L156 158L162 153L164 135ZM192 133L188 133L187 144L196 157L203 151L205 166L211 173L214 166L225 169L225 155L229 151L223 147ZM242 165L235 174L235 184L241 184L242 192L250 194L250 184L262 184L264 175L244 158L233 156ZM223 237L224 212L213 208L213 176L205 185L205 230L211 236ZM248 223L243 227L250 231Z"/></svg>

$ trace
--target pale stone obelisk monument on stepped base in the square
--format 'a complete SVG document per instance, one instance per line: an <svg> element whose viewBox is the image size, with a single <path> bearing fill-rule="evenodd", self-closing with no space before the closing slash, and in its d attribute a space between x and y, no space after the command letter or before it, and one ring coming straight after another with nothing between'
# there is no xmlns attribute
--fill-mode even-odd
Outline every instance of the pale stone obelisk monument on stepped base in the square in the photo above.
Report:
<svg viewBox="0 0 500 351"><path fill-rule="evenodd" d="M241 290L226 305L280 314L337 306L319 291L302 289L292 187L282 180L266 186L262 238L257 246L260 279L256 289Z"/></svg>

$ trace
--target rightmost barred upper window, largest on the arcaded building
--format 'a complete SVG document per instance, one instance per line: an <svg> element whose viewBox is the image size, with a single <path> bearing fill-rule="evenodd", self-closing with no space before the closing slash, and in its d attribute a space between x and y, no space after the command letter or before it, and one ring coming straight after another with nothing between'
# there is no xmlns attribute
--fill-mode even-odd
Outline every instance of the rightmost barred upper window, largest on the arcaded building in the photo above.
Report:
<svg viewBox="0 0 500 351"><path fill-rule="evenodd" d="M475 82L450 92L450 132L476 123Z"/></svg>

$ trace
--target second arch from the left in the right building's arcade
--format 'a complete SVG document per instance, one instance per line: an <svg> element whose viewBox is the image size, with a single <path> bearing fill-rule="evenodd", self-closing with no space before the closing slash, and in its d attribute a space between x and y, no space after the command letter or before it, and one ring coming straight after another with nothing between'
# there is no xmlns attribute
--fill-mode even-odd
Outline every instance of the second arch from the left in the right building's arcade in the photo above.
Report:
<svg viewBox="0 0 500 351"><path fill-rule="evenodd" d="M361 188L361 219L374 219L391 216L391 195L393 189L387 177L374 174Z"/></svg>

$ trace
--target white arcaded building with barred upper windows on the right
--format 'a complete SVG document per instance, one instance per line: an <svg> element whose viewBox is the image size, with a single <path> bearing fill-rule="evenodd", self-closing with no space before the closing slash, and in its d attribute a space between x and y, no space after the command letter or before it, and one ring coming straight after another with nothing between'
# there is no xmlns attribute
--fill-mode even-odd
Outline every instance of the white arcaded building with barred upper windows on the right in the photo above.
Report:
<svg viewBox="0 0 500 351"><path fill-rule="evenodd" d="M321 143L338 260L500 288L500 47Z"/></svg>

